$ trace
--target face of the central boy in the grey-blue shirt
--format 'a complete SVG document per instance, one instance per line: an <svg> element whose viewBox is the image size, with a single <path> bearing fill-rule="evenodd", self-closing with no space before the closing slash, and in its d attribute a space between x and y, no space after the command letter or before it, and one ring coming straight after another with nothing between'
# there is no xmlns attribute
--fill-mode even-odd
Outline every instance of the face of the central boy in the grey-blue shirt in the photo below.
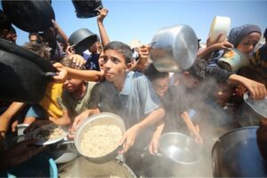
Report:
<svg viewBox="0 0 267 178"><path fill-rule="evenodd" d="M102 62L105 77L109 82L116 82L124 79L128 67L121 53L114 50L107 50L104 52Z"/></svg>

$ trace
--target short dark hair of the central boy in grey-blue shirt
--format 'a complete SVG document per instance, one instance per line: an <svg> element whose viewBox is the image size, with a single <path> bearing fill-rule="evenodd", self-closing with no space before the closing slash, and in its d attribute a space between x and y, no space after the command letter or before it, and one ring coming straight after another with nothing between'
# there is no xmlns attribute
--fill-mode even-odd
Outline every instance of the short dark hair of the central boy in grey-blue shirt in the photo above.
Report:
<svg viewBox="0 0 267 178"><path fill-rule="evenodd" d="M133 52L130 46L127 44L117 42L117 41L110 42L104 47L104 52L107 50L114 50L114 51L121 53L123 57L125 58L126 64L132 61Z"/></svg>

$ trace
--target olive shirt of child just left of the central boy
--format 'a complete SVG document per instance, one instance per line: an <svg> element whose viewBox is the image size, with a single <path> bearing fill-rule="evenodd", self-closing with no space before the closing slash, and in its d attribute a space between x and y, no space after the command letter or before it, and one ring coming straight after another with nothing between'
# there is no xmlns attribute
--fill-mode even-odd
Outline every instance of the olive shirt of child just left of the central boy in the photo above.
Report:
<svg viewBox="0 0 267 178"><path fill-rule="evenodd" d="M87 82L85 95L80 100L75 100L71 96L71 93L63 90L62 104L64 108L68 109L70 118L77 117L77 115L85 111L85 109L89 109L90 95L93 85L95 84L95 82Z"/></svg>

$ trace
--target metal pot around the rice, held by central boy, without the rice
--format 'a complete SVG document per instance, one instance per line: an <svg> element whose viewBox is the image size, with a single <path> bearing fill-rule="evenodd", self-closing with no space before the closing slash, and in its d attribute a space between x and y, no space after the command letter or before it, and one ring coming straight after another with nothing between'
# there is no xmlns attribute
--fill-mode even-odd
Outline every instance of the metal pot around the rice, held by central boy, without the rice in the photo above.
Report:
<svg viewBox="0 0 267 178"><path fill-rule="evenodd" d="M87 117L79 125L77 133L75 134L74 143L77 148L77 151L82 156L88 158L93 163L105 163L117 157L117 150L119 149L119 146L117 147L116 150L113 150L109 154L98 158L87 157L81 151L81 142L85 132L93 125L103 125L103 124L117 125L122 130L122 133L123 134L125 133L125 121L121 117L113 113L101 112L100 114L95 114L91 117Z"/></svg>

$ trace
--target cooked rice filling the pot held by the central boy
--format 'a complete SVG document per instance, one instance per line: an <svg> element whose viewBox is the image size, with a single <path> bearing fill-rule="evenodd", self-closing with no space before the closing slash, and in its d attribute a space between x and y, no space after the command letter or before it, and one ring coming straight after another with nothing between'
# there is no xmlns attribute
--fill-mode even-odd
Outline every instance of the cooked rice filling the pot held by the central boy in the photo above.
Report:
<svg viewBox="0 0 267 178"><path fill-rule="evenodd" d="M103 157L117 149L122 136L117 125L93 125L82 137L81 152L90 158Z"/></svg>

